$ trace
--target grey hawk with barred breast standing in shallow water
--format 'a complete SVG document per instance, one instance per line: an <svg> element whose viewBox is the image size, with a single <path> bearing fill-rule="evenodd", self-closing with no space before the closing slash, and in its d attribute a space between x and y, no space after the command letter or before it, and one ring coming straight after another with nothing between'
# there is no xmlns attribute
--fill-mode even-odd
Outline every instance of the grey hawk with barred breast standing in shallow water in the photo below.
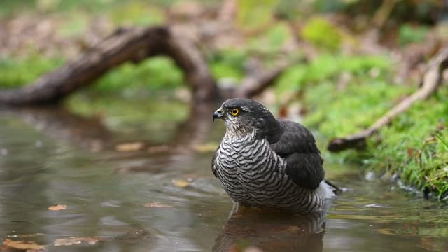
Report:
<svg viewBox="0 0 448 252"><path fill-rule="evenodd" d="M325 181L321 152L304 125L246 98L223 102L216 119L226 131L211 170L237 207L313 213L339 190Z"/></svg>

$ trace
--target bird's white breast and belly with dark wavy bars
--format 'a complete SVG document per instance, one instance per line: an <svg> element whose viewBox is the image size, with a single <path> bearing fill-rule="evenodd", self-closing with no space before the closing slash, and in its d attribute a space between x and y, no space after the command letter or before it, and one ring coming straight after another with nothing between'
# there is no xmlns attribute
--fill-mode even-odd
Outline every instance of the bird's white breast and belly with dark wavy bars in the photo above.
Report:
<svg viewBox="0 0 448 252"><path fill-rule="evenodd" d="M288 178L285 160L266 139L255 139L255 132L241 137L226 133L213 165L234 202L302 213L323 206L314 190L301 188Z"/></svg>

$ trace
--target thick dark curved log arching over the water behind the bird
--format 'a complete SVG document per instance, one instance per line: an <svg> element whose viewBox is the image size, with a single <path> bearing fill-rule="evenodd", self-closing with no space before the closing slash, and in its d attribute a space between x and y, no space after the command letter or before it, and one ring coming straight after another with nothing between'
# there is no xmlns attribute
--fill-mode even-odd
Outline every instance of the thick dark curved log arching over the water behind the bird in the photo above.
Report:
<svg viewBox="0 0 448 252"><path fill-rule="evenodd" d="M119 29L64 66L47 73L29 85L0 90L0 104L27 106L52 104L90 85L107 71L124 62L141 62L155 55L167 55L183 69L195 102L218 97L218 87L200 52L185 38L178 38L168 27ZM24 69L26 71L26 69ZM151 78L151 76L148 76Z"/></svg>

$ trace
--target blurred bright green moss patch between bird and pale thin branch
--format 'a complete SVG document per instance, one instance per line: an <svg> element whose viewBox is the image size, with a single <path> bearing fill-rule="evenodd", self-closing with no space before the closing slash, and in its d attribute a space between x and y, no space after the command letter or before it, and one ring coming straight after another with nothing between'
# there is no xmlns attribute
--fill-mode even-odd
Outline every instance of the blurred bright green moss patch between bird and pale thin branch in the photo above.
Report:
<svg viewBox="0 0 448 252"><path fill-rule="evenodd" d="M398 97L411 91L384 80L358 81L353 81L344 90L337 90L332 82L314 86L305 97L306 103L316 110L307 116L307 125L318 127L331 137L358 132L385 113ZM318 100L322 97L325 101L321 104Z"/></svg>

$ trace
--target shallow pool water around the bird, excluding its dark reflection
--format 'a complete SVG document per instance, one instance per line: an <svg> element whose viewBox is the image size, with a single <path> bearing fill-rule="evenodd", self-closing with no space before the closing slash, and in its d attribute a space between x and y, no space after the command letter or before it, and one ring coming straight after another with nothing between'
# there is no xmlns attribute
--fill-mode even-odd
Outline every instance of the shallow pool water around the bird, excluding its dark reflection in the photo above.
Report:
<svg viewBox="0 0 448 252"><path fill-rule="evenodd" d="M448 251L446 207L330 162L347 190L326 216L229 217L210 168L224 132L213 106L87 102L0 111L0 238L49 251Z"/></svg>

